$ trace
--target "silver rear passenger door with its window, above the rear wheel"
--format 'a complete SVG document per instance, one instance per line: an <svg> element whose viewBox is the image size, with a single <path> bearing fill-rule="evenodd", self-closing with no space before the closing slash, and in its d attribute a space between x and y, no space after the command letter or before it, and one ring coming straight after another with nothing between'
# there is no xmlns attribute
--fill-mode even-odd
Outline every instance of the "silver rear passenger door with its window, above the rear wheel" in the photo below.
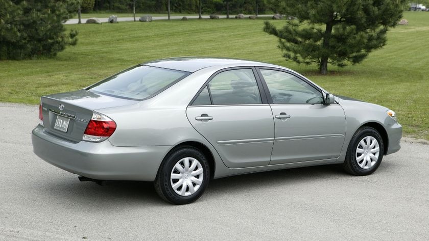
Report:
<svg viewBox="0 0 429 241"><path fill-rule="evenodd" d="M230 168L270 163L273 115L255 71L235 68L214 74L186 109L189 122Z"/></svg>

